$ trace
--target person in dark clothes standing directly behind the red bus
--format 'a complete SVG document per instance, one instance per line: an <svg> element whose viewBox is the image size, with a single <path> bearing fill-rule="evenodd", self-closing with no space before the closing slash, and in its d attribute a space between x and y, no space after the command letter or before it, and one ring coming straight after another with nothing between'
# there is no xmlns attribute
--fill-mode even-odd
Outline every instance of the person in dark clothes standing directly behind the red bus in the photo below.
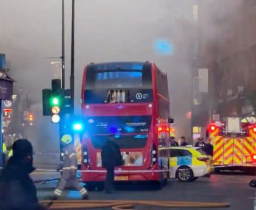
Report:
<svg viewBox="0 0 256 210"><path fill-rule="evenodd" d="M116 166L121 166L123 159L118 144L115 138L110 136L110 139L102 147L101 150L102 167L107 169L107 176L105 180L105 193L113 192L114 169Z"/></svg>

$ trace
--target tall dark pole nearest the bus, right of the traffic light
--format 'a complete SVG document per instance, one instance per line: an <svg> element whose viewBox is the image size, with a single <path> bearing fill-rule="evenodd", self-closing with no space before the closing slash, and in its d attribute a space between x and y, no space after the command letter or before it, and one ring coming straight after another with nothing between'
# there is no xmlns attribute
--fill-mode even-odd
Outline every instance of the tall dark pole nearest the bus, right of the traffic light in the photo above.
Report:
<svg viewBox="0 0 256 210"><path fill-rule="evenodd" d="M75 9L75 0L72 0L70 93L71 93L71 107L72 107L73 113L74 113L74 9Z"/></svg>

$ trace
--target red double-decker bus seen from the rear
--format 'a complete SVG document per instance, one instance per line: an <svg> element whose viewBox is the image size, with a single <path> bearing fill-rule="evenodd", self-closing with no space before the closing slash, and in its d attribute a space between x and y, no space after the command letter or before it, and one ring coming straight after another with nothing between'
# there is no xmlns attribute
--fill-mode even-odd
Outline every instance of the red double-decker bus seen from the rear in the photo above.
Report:
<svg viewBox="0 0 256 210"><path fill-rule="evenodd" d="M101 148L113 134L123 156L123 166L115 170L115 181L166 180L166 175L157 170L163 168L158 148L169 138L168 81L166 73L154 63L87 65L82 82L82 115L86 128L81 166L86 172L82 172L82 181L89 188L102 186L105 180Z"/></svg>

